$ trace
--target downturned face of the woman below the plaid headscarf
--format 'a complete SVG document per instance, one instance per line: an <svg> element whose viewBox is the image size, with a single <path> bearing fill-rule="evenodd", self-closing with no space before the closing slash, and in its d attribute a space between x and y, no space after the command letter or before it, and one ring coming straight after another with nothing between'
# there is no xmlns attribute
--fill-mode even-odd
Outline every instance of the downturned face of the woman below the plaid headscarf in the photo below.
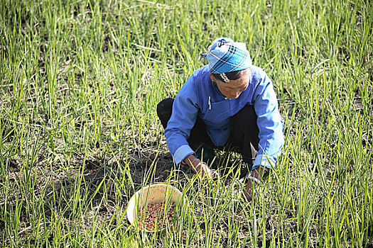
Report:
<svg viewBox="0 0 373 248"><path fill-rule="evenodd" d="M229 99L235 99L249 86L249 72L251 71L246 70L239 79L231 80L227 83L215 79L212 73L210 73L210 78L212 81L215 81L217 88L219 88L223 95Z"/></svg>

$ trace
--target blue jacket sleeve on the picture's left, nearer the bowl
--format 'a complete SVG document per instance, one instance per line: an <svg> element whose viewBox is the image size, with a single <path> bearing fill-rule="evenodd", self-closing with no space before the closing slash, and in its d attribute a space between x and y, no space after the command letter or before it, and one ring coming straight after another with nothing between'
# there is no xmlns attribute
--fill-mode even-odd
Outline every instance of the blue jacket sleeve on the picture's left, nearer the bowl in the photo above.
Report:
<svg viewBox="0 0 373 248"><path fill-rule="evenodd" d="M168 149L176 164L182 162L189 154L194 153L187 140L198 115L197 97L192 75L175 97L172 115L164 133Z"/></svg>

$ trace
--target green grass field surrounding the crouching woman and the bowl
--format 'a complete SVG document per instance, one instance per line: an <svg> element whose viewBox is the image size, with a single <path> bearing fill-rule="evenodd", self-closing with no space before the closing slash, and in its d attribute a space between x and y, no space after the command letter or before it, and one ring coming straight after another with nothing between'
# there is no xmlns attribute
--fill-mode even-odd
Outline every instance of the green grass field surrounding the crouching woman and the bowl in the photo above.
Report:
<svg viewBox="0 0 373 248"><path fill-rule="evenodd" d="M0 247L373 247L371 1L0 1ZM217 37L274 81L286 144L252 203L172 163L156 104ZM135 232L141 186L178 228Z"/></svg>

